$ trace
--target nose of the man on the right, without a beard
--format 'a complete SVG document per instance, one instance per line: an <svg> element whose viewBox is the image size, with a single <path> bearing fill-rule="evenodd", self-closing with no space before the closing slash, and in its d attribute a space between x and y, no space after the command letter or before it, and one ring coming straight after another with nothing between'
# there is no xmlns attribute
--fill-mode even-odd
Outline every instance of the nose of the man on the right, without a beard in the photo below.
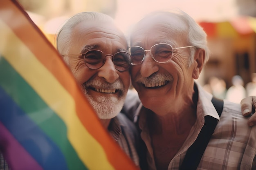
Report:
<svg viewBox="0 0 256 170"><path fill-rule="evenodd" d="M140 73L142 77L149 77L153 73L157 72L159 70L157 66L157 62L153 60L153 58L150 55L150 52L146 51L145 58L143 62L141 63Z"/></svg>

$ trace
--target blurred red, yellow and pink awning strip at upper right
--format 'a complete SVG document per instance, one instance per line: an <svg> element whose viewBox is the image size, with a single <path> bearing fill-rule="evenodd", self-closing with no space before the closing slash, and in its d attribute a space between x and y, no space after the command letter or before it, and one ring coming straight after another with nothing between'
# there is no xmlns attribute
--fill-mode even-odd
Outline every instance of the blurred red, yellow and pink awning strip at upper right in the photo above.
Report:
<svg viewBox="0 0 256 170"><path fill-rule="evenodd" d="M238 37L256 33L256 18L239 17L225 22L198 22L212 37Z"/></svg>

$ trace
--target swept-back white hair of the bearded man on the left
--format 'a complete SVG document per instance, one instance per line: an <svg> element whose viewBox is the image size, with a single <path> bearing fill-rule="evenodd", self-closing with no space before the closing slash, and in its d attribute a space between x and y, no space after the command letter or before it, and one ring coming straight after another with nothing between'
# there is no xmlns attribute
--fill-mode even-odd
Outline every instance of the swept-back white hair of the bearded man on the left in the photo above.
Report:
<svg viewBox="0 0 256 170"><path fill-rule="evenodd" d="M74 27L83 21L104 21L114 23L113 18L109 15L98 13L98 12L81 12L72 16L67 22L62 26L58 32L56 39L57 50L61 55L69 53L70 48L72 47L72 33ZM69 57L64 57L64 61L68 63Z"/></svg>

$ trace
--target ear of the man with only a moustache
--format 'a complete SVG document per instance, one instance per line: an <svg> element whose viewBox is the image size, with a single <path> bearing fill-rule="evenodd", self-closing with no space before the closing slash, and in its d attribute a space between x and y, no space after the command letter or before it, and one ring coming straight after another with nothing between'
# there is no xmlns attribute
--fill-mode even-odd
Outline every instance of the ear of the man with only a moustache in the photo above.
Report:
<svg viewBox="0 0 256 170"><path fill-rule="evenodd" d="M197 49L194 55L194 69L193 69L193 78L198 79L202 68L204 66L204 58L205 58L205 51L204 49Z"/></svg>

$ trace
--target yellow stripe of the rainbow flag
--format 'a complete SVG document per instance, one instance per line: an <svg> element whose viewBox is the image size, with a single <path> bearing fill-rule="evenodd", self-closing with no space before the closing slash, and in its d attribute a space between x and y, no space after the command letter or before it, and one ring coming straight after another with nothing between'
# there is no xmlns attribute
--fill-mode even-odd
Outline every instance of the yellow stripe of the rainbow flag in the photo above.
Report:
<svg viewBox="0 0 256 170"><path fill-rule="evenodd" d="M2 20L0 20L0 27L2 29L0 31L2 55L34 88L45 103L63 119L67 126L68 139L85 165L91 170L114 169L102 146L81 124L76 115L75 102L72 96ZM18 45L13 46L13 42ZM9 48L11 46L14 48Z"/></svg>

